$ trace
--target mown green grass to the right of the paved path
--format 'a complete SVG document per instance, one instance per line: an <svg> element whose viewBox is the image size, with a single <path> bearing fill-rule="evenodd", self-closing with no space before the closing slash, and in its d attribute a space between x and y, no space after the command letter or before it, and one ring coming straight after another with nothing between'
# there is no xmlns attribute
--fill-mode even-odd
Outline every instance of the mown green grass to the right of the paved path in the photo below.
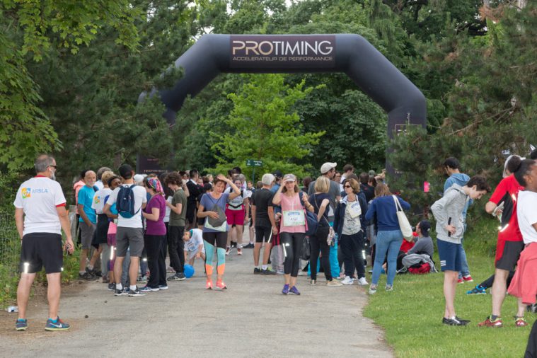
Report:
<svg viewBox="0 0 537 358"><path fill-rule="evenodd" d="M507 296L502 307L504 327L479 328L477 324L490 315L492 296L466 295L468 289L494 272L494 258L490 254L494 252L496 226L494 221L480 221L465 238L468 264L475 282L458 285L455 308L458 316L471 321L467 327L441 324L444 315L444 275L441 272L398 275L393 292L383 291L386 275L382 275L380 289L370 296L364 314L385 330L386 340L397 357L524 356L537 315L526 312L530 325L516 328L512 318L516 313L516 299ZM439 262L437 253L434 262Z"/></svg>

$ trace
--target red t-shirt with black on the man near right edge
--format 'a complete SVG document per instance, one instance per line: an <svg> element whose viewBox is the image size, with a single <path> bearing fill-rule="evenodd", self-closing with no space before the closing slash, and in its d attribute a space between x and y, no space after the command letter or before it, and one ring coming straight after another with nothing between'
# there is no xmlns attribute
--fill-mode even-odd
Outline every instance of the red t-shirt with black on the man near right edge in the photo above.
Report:
<svg viewBox="0 0 537 358"><path fill-rule="evenodd" d="M502 225L498 233L499 241L522 241L519 221L516 219L516 202L519 199L520 190L524 190L524 187L516 181L514 175L509 175L502 179L490 197L490 201L497 205L504 202Z"/></svg>

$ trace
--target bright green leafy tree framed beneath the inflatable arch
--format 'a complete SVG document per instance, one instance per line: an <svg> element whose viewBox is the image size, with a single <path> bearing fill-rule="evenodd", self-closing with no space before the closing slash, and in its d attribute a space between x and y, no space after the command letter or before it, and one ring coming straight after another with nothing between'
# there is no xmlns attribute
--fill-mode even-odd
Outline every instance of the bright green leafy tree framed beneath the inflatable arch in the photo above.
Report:
<svg viewBox="0 0 537 358"><path fill-rule="evenodd" d="M303 89L304 81L294 87L285 85L280 74L244 78L248 82L241 92L228 96L233 102L233 110L226 120L230 132L212 133L219 138L212 146L219 161L215 170L244 167L247 159L256 159L263 162L265 173L279 169L304 175L306 168L297 161L311 152L324 132L303 133L300 117L292 112L292 107L313 88Z"/></svg>

